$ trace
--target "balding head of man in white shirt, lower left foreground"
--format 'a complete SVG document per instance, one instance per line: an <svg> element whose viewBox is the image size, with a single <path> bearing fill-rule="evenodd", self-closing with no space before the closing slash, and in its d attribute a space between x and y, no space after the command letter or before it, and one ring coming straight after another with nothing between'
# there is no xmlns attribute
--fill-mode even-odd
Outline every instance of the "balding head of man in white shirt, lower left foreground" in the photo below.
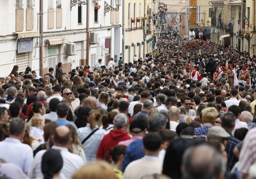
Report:
<svg viewBox="0 0 256 179"><path fill-rule="evenodd" d="M56 127L53 142L55 146L68 146L72 142L69 128L65 125Z"/></svg>

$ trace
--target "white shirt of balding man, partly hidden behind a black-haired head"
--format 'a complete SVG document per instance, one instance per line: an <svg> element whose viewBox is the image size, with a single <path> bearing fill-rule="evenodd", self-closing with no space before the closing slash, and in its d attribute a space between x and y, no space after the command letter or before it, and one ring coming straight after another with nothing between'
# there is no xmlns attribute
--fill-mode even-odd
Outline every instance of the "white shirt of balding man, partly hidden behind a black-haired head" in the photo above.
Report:
<svg viewBox="0 0 256 179"><path fill-rule="evenodd" d="M63 167L61 169L61 173L67 179L71 179L72 175L76 172L76 170L80 169L85 164L83 162L83 159L79 155L70 153L69 150L65 147L52 146L52 149L56 149L60 151L61 156L63 158ZM37 152L33 160L30 172L28 173L28 177L30 178L43 177L43 173L41 170L41 161L45 152L46 150L41 150Z"/></svg>

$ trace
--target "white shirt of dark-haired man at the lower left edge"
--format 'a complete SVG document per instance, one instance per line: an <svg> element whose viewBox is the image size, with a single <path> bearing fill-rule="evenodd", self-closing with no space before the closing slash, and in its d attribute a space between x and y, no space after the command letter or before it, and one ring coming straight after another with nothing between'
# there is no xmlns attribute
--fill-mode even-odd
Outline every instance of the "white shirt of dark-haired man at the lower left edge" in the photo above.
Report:
<svg viewBox="0 0 256 179"><path fill-rule="evenodd" d="M23 172L28 172L33 161L33 150L16 138L7 137L0 142L0 158L8 163L17 164Z"/></svg>

